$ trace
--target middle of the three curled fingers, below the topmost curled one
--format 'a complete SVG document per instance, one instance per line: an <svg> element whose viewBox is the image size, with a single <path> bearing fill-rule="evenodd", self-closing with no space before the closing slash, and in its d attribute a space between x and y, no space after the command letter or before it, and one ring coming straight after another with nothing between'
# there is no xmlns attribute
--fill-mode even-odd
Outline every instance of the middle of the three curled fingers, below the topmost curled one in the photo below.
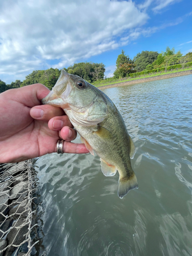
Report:
<svg viewBox="0 0 192 256"><path fill-rule="evenodd" d="M52 131L60 131L64 126L73 127L67 115L55 116L48 122L49 129Z"/></svg>

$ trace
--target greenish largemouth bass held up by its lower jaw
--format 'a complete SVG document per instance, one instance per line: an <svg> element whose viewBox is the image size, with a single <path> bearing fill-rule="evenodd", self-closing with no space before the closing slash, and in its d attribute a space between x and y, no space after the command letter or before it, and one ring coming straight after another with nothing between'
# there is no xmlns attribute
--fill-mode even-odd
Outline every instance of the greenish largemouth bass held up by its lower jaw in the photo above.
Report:
<svg viewBox="0 0 192 256"><path fill-rule="evenodd" d="M120 112L107 95L81 77L62 70L42 103L65 111L90 153L100 157L104 176L114 176L118 171L119 198L138 188L131 166L135 146Z"/></svg>

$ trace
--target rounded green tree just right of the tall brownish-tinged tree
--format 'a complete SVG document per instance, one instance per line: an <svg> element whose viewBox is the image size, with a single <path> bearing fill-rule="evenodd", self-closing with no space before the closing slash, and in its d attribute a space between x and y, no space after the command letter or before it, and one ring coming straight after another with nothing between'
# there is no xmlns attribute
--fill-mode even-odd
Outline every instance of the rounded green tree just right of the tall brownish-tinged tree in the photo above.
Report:
<svg viewBox="0 0 192 256"><path fill-rule="evenodd" d="M134 64L136 65L137 71L142 71L147 65L152 64L158 57L158 52L153 51L142 51L134 57Z"/></svg>

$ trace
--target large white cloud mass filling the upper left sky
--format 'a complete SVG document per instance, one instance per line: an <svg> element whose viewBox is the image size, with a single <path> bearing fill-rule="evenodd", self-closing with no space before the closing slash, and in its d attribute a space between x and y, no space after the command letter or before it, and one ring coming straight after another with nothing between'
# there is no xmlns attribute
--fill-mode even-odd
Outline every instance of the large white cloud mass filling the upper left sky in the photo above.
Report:
<svg viewBox="0 0 192 256"><path fill-rule="evenodd" d="M49 60L60 69L126 45L121 36L148 19L133 2L109 0L7 0L0 11L0 74L21 78Z"/></svg>

